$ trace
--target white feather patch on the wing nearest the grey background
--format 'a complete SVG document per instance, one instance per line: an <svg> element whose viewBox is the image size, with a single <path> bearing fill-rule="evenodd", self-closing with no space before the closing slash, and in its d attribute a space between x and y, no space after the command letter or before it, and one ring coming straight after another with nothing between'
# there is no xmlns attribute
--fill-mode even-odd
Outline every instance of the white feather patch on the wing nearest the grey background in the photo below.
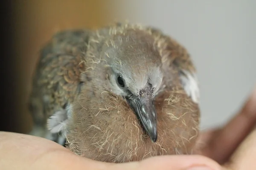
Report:
<svg viewBox="0 0 256 170"><path fill-rule="evenodd" d="M180 76L180 80L183 84L186 94L191 97L193 102L199 104L200 93L199 84L196 74L192 74L189 71L182 71L183 74Z"/></svg>

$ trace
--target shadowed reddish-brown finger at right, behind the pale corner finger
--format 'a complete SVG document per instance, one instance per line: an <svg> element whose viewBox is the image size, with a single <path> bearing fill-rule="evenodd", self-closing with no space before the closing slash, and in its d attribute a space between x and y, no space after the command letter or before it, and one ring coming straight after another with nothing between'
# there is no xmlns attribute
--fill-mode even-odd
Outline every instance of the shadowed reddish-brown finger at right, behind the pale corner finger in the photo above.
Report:
<svg viewBox="0 0 256 170"><path fill-rule="evenodd" d="M256 88L237 114L227 125L212 138L203 150L209 156L222 164L232 155L236 147L244 140L256 125Z"/></svg>

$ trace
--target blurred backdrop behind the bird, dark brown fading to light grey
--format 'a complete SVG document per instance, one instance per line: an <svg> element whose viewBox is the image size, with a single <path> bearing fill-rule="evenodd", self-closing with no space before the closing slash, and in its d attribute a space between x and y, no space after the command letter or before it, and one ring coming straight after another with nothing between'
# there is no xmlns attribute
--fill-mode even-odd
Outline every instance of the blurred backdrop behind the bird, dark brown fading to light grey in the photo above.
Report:
<svg viewBox="0 0 256 170"><path fill-rule="evenodd" d="M223 125L256 85L255 9L254 0L13 0L4 16L8 64L2 62L0 130L31 130L31 79L52 34L125 20L160 28L187 48L198 70L201 128Z"/></svg>

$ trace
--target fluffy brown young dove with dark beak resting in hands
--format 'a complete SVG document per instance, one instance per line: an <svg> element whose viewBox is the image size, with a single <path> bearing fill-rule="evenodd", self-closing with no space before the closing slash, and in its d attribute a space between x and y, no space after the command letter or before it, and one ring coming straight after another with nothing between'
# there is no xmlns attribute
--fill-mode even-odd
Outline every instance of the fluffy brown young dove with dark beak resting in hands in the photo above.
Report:
<svg viewBox="0 0 256 170"><path fill-rule="evenodd" d="M192 57L159 28L62 30L39 54L30 134L96 161L193 154L199 99Z"/></svg>

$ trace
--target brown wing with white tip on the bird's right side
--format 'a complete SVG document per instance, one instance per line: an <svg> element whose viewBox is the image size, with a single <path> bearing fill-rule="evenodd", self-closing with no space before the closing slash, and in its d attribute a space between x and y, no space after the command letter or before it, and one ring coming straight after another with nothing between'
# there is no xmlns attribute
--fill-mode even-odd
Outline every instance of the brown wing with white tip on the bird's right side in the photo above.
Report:
<svg viewBox="0 0 256 170"><path fill-rule="evenodd" d="M199 83L196 75L196 69L186 48L180 45L176 40L162 33L157 28L147 28L156 40L157 48L162 57L163 69L169 72L169 69L176 67L180 76L183 89L191 97L192 101L199 103Z"/></svg>

